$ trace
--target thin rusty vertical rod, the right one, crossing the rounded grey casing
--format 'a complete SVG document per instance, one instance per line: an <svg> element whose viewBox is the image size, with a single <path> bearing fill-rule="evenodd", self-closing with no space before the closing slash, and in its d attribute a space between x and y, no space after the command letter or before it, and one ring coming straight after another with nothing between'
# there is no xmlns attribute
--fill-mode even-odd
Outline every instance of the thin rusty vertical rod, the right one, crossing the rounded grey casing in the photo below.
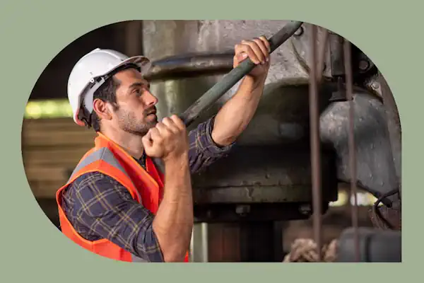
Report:
<svg viewBox="0 0 424 283"><path fill-rule="evenodd" d="M349 166L351 169L351 216L352 226L354 230L354 243L355 243L355 261L359 262L359 233L358 233L358 200L356 188L356 152L355 152L355 136L354 136L354 105L353 105L353 78L352 78L352 64L351 64L351 42L344 40L343 44L344 66L346 74L346 97L349 101L349 127L348 127L348 148L349 148ZM353 204L351 203L353 196Z"/></svg>

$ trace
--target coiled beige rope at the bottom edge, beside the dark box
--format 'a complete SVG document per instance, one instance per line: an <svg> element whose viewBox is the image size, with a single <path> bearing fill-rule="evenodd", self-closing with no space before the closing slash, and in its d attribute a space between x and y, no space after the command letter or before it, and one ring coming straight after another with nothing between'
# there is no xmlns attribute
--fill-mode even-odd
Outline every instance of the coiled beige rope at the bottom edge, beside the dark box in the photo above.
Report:
<svg viewBox="0 0 424 283"><path fill-rule="evenodd" d="M336 247L336 240L322 246L322 262L333 262L336 259ZM317 243L309 238L296 239L283 262L318 262Z"/></svg>

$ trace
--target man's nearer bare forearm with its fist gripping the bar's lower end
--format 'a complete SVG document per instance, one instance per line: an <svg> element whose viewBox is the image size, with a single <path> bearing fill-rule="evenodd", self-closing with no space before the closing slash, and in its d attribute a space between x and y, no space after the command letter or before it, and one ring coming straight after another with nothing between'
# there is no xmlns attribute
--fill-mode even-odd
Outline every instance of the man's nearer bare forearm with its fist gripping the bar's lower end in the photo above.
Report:
<svg viewBox="0 0 424 283"><path fill-rule="evenodd" d="M183 262L193 228L192 181L187 129L176 115L165 117L143 137L148 156L165 165L163 200L153 220L165 262Z"/></svg>

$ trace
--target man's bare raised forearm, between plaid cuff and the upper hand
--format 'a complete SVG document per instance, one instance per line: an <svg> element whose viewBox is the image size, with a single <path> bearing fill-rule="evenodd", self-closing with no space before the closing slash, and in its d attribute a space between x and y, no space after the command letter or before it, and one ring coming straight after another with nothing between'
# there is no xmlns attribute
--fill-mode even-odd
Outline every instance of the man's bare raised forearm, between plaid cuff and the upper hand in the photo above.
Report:
<svg viewBox="0 0 424 283"><path fill-rule="evenodd" d="M258 80L246 76L237 93L219 110L212 130L212 138L217 144L232 144L245 130L257 110L265 79L266 76Z"/></svg>

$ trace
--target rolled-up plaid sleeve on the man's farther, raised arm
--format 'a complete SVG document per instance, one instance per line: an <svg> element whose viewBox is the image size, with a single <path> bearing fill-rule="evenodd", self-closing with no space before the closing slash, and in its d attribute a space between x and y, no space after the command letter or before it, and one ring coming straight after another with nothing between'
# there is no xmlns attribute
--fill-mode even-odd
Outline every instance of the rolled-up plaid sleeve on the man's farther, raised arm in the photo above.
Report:
<svg viewBox="0 0 424 283"><path fill-rule="evenodd" d="M212 139L215 116L189 132L189 163L192 173L203 171L218 159L229 154L235 143L218 146Z"/></svg>

